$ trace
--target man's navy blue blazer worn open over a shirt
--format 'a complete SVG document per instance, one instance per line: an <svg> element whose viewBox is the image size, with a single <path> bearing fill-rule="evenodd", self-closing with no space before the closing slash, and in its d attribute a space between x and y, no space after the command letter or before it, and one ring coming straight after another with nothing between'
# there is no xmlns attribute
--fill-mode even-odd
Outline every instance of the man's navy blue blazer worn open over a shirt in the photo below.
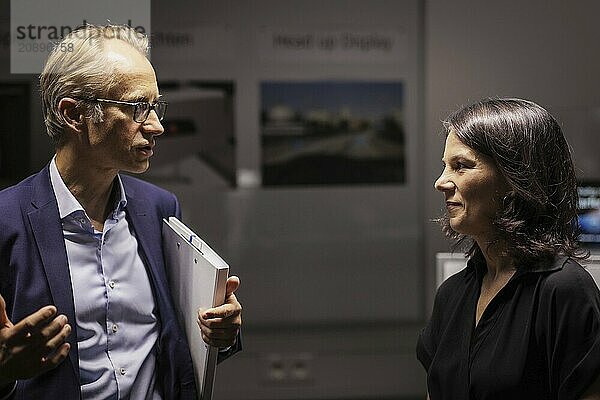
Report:
<svg viewBox="0 0 600 400"><path fill-rule="evenodd" d="M177 322L162 250L162 219L180 217L179 203L172 193L147 182L126 175L121 175L121 180L127 196L127 220L139 243L160 321L157 371L163 398L195 399L192 360ZM13 323L53 304L73 328L68 338L69 357L49 372L18 381L13 398L79 399L75 307L48 166L0 192L0 293Z"/></svg>

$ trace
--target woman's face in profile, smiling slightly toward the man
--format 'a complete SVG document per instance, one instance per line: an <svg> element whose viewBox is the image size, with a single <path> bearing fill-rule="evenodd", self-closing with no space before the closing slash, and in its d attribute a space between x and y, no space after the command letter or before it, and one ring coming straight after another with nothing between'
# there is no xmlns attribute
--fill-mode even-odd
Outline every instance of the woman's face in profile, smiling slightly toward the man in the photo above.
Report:
<svg viewBox="0 0 600 400"><path fill-rule="evenodd" d="M435 188L444 193L450 226L476 241L490 237L492 220L509 187L493 161L463 144L453 129L446 138L444 170Z"/></svg>

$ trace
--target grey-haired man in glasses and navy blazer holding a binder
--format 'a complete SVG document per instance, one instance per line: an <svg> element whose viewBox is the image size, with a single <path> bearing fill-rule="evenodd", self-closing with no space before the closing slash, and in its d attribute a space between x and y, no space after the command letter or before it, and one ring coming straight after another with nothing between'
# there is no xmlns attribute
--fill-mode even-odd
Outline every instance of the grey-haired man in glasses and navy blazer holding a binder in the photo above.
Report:
<svg viewBox="0 0 600 400"><path fill-rule="evenodd" d="M147 51L131 28L87 25L42 72L56 155L0 192L0 399L196 398L161 246L179 204L119 174L144 172L163 133ZM221 359L240 349L238 286L198 314Z"/></svg>

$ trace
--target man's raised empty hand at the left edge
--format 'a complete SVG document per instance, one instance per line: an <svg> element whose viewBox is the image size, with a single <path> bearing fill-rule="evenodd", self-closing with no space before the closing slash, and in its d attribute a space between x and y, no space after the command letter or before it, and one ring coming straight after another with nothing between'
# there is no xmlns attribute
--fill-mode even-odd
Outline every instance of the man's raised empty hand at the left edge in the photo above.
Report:
<svg viewBox="0 0 600 400"><path fill-rule="evenodd" d="M42 307L13 325L0 295L0 388L48 371L67 357L71 326L56 313L54 306Z"/></svg>

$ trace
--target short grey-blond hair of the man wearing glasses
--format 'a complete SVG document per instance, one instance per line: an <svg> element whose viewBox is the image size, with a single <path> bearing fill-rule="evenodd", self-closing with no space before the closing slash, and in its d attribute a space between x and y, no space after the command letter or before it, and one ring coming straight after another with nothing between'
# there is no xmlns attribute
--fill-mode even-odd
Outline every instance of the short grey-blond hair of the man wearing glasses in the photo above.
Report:
<svg viewBox="0 0 600 400"><path fill-rule="evenodd" d="M106 96L119 84L118 64L104 53L108 40L122 40L145 57L146 35L127 25L84 25L65 36L52 50L40 75L40 94L46 131L56 145L62 140L65 120L58 103L65 97L78 100L77 107L93 122L101 122L102 108L86 100Z"/></svg>

